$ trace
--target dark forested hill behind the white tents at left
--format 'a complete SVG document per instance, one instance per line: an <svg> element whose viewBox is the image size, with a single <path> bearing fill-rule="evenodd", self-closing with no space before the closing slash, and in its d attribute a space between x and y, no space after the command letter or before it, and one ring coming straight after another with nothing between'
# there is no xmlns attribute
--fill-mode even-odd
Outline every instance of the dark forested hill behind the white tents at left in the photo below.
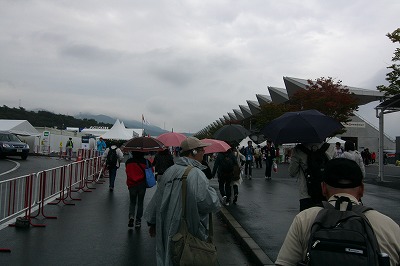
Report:
<svg viewBox="0 0 400 266"><path fill-rule="evenodd" d="M94 119L77 119L69 115L55 114L48 111L27 111L23 107L9 108L6 105L0 106L0 119L28 120L34 127L57 127L58 129L90 126L111 128L113 126L113 124L97 122Z"/></svg>

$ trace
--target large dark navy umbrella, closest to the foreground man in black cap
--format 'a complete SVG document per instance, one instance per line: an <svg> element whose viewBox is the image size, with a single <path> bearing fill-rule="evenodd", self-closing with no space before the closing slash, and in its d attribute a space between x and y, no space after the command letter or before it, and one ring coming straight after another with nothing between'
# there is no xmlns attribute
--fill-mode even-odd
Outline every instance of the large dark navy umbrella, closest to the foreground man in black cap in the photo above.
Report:
<svg viewBox="0 0 400 266"><path fill-rule="evenodd" d="M288 112L269 122L261 132L275 144L321 143L343 126L317 110Z"/></svg>

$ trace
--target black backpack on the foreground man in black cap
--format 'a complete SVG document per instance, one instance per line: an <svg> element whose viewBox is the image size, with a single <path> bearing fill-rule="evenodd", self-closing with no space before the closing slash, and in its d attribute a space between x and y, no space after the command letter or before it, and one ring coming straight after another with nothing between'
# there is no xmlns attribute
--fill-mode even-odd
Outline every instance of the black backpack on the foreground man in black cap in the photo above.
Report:
<svg viewBox="0 0 400 266"><path fill-rule="evenodd" d="M340 211L342 202L348 202L346 211ZM311 227L307 257L298 265L390 264L388 257L381 260L378 241L364 215L372 208L352 205L348 197L338 198L335 207L326 201L323 206Z"/></svg>

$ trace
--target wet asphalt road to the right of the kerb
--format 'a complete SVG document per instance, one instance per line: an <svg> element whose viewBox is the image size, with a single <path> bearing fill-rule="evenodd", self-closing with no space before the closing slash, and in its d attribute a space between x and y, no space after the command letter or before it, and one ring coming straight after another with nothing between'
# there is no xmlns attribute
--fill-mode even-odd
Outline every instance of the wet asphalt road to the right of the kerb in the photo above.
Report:
<svg viewBox="0 0 400 266"><path fill-rule="evenodd" d="M275 261L294 216L299 211L296 178L289 177L288 165L280 164L272 180L265 169L253 169L252 180L239 187L237 205L226 207L267 256ZM388 186L400 188L400 167L385 167ZM400 224L400 190L377 185L378 166L368 166L363 202ZM385 178L389 180L389 178Z"/></svg>

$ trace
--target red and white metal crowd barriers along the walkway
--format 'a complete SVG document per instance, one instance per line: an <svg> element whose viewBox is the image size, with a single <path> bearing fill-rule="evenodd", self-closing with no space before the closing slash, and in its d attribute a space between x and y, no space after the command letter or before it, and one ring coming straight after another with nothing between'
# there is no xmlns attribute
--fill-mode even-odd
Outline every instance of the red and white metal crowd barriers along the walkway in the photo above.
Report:
<svg viewBox="0 0 400 266"><path fill-rule="evenodd" d="M39 216L57 219L46 214L46 205L75 205L73 201L81 199L74 197L73 193L96 189L91 185L102 183L99 180L103 172L101 157L82 157L64 166L0 181L0 225L18 217L28 226L45 227L46 225L35 223L32 219ZM19 217L21 215L23 216ZM9 225L16 226L16 223ZM0 252L9 251L0 248Z"/></svg>

